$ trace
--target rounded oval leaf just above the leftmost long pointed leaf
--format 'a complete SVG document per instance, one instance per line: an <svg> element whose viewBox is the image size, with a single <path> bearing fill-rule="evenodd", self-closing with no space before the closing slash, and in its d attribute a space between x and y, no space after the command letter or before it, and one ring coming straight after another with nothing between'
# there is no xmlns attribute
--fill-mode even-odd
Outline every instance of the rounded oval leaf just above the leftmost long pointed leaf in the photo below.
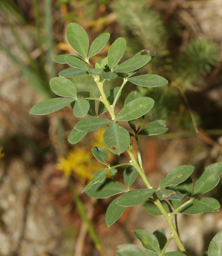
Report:
<svg viewBox="0 0 222 256"><path fill-rule="evenodd" d="M64 77L53 77L50 82L52 91L63 97L76 98L76 88L72 81Z"/></svg>

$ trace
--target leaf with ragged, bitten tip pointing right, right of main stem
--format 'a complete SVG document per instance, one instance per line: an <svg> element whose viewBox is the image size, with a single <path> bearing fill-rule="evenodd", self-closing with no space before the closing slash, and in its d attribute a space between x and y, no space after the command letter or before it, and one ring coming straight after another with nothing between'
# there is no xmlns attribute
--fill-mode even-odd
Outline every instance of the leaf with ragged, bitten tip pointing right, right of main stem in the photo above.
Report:
<svg viewBox="0 0 222 256"><path fill-rule="evenodd" d="M165 128L166 121L156 120L147 124L143 129L138 133L138 135L157 135L164 132L167 132L169 128Z"/></svg>

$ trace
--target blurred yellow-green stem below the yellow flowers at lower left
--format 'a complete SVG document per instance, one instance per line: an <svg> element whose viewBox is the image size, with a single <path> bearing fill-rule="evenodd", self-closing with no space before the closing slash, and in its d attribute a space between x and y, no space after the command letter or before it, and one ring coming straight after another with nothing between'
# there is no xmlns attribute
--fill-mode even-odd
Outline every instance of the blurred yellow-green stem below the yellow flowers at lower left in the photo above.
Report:
<svg viewBox="0 0 222 256"><path fill-rule="evenodd" d="M86 224L86 226L88 228L88 232L90 233L90 236L91 236L93 242L95 243L96 248L98 249L98 251L100 252L100 254L102 256L105 256L105 252L104 252L104 249L102 247L102 244L99 241L99 238L98 238L98 236L96 234L96 231L95 231L91 221L88 219L88 217L86 215L86 211L84 209L83 203L82 203L79 195L75 191L75 188L73 186L73 182L72 182L71 178L69 179L69 188L70 188L70 191L71 191L72 196L74 198L77 211L78 211L81 219L85 222L85 224Z"/></svg>

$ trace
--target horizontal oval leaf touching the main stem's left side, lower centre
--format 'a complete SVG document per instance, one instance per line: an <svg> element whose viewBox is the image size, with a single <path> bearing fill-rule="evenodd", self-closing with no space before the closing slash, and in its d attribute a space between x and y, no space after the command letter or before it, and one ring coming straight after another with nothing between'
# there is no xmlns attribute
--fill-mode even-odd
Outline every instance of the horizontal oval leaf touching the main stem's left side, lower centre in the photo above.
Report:
<svg viewBox="0 0 222 256"><path fill-rule="evenodd" d="M136 206L145 202L152 194L155 192L155 189L135 189L130 190L118 197L116 203L121 206Z"/></svg>

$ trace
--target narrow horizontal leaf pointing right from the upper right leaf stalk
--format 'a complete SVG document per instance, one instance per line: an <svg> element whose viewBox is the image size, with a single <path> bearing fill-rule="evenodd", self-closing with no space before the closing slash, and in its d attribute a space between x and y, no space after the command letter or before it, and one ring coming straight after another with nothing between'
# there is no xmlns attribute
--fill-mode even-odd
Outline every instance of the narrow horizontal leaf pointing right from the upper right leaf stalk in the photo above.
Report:
<svg viewBox="0 0 222 256"><path fill-rule="evenodd" d="M168 84L167 79L158 75L141 75L128 78L128 81L143 87L159 87Z"/></svg>

